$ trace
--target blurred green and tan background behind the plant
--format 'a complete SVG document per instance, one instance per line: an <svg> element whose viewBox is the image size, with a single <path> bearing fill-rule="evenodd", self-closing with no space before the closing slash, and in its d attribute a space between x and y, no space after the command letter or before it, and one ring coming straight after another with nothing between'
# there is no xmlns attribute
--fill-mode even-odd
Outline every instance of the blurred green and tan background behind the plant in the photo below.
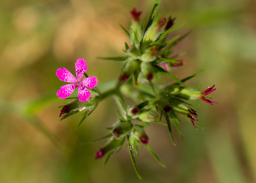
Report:
<svg viewBox="0 0 256 183"><path fill-rule="evenodd" d="M159 12L177 17L170 38L192 29L175 52L185 65L182 79L206 71L187 84L216 84L196 109L204 129L187 119L174 131L174 146L161 125L146 127L149 143L166 164L162 168L145 148L137 167L127 148L109 160L94 160L103 143L81 145L107 134L116 122L113 99L97 107L78 128L78 113L59 121L66 101L56 92L57 68L74 73L84 58L87 74L99 84L119 76L121 63L97 56L122 55L130 9L148 19L154 0L1 0L0 1L0 182L1 183L253 183L256 182L256 1L162 0ZM76 92L74 92L76 93Z"/></svg>

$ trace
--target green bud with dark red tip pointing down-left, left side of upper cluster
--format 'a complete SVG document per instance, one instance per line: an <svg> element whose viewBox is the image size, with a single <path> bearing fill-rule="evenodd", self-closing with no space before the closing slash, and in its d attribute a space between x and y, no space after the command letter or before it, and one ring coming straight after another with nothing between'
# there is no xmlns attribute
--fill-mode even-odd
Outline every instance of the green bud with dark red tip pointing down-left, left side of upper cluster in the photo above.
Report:
<svg viewBox="0 0 256 183"><path fill-rule="evenodd" d="M127 59L123 65L122 73L119 80L121 82L126 81L130 77L130 75L134 73L134 71L137 68L137 65L138 65L138 62L136 60Z"/></svg>

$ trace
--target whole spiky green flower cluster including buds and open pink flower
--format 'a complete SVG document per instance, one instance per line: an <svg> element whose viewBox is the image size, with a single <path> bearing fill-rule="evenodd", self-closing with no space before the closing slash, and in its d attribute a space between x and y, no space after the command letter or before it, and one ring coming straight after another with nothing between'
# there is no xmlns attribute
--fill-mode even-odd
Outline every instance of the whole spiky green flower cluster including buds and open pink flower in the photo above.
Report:
<svg viewBox="0 0 256 183"><path fill-rule="evenodd" d="M111 131L108 135L96 140L107 139L107 143L96 152L95 159L100 159L108 153L107 160L109 160L113 152L122 148L127 140L126 147L129 147L136 173L135 153L138 155L138 145L145 146L164 167L164 164L161 163L149 145L149 137L144 127L152 123L167 126L173 141L172 125L175 126L182 137L179 127L181 122L179 115L187 117L187 120L191 121L194 128L201 127L198 123L197 112L192 109L194 106L200 107L195 100L202 99L211 105L217 103L209 100L210 98L207 96L216 90L214 89L215 85L204 92L200 92L196 89L198 86L190 87L185 84L187 80L190 80L203 70L182 80L171 74L173 69L184 64L181 59L178 59L177 55L179 54L173 54L173 47L183 40L188 33L181 37L176 36L171 40L167 40L168 33L179 26L173 27L175 18L166 19L165 16L156 16L157 8L158 5L155 5L147 25L140 23L142 12L138 12L133 8L130 11L133 19L130 23L129 31L121 26L130 40L130 46L125 42L124 56L102 58L124 61L121 74L114 88L104 93L97 92L97 96L89 100L90 92L87 88L96 87L97 78L92 76L82 79L87 70L87 64L83 59L76 61L76 77L65 68L59 68L56 72L60 80L71 82L71 84L62 86L57 92L59 98L64 99L70 96L73 90L78 87L78 99L62 108L60 116L65 114L62 118L68 116L71 111L85 110L83 121L85 117L92 113L101 100L110 95L116 96L116 103L120 108L120 110L116 111L119 120L112 127L107 128ZM131 77L133 77L133 80ZM125 105L124 96L135 102L133 106ZM86 103L83 104L83 102ZM138 177L140 176L138 175Z"/></svg>

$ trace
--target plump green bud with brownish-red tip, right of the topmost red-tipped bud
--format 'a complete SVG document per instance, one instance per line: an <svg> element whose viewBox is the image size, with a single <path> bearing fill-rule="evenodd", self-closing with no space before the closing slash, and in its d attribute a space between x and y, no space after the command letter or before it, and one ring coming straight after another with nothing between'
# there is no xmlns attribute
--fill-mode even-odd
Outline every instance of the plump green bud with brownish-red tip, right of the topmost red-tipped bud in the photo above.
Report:
<svg viewBox="0 0 256 183"><path fill-rule="evenodd" d="M147 29L143 37L143 42L147 44L156 41L159 35L164 30L165 22L165 16L162 16L161 18L158 18L155 22L153 22L152 25Z"/></svg>

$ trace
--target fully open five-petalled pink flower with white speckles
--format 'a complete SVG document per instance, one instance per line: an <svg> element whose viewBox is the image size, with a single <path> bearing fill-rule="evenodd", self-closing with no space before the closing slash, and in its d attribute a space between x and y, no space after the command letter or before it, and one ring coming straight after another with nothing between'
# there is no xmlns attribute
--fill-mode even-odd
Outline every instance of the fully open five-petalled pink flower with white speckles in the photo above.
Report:
<svg viewBox="0 0 256 183"><path fill-rule="evenodd" d="M71 84L66 84L60 87L56 95L59 96L59 99L65 99L73 93L76 87L78 87L79 101L86 102L89 100L91 95L87 88L92 89L96 87L98 80L95 76L86 77L83 80L81 80L87 70L87 63L84 59L77 59L75 66L76 77L74 77L66 68L57 69L56 75L59 77L59 80L71 82Z"/></svg>

